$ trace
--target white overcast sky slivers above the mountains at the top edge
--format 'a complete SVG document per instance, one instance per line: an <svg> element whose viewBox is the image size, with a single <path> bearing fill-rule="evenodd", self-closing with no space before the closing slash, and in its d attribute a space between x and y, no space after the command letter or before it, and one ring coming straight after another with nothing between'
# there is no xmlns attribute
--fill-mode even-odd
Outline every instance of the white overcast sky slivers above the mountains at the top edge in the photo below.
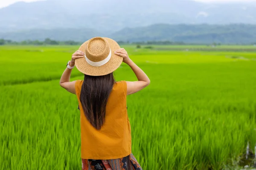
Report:
<svg viewBox="0 0 256 170"><path fill-rule="evenodd" d="M38 0L0 0L0 8L3 8L5 6L9 6L12 3L16 3L18 1L24 1L24 2L34 2L34 1L38 1ZM242 2L242 1L255 1L256 0L196 0L196 1L200 1L200 2L207 2L207 3L211 3L211 2Z"/></svg>

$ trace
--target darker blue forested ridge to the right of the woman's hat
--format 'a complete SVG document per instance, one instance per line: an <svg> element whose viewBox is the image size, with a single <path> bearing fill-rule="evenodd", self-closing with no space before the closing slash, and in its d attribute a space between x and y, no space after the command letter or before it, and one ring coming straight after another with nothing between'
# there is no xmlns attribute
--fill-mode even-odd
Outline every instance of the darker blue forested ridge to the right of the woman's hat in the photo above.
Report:
<svg viewBox="0 0 256 170"><path fill-rule="evenodd" d="M243 44L256 42L256 25L168 25L125 28L110 35L122 41L173 41L186 43Z"/></svg>

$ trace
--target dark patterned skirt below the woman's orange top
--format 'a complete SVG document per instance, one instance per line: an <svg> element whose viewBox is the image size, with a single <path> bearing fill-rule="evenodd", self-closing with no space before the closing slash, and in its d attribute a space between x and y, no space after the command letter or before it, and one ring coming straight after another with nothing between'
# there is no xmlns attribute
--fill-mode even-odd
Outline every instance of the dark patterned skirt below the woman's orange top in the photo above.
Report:
<svg viewBox="0 0 256 170"><path fill-rule="evenodd" d="M119 159L82 159L82 170L142 170L134 155Z"/></svg>

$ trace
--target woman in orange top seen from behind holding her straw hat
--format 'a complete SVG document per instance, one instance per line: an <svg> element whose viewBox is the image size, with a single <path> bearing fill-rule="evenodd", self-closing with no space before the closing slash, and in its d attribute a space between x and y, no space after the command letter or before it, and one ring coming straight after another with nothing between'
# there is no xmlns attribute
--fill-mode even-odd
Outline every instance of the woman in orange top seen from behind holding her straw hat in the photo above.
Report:
<svg viewBox="0 0 256 170"><path fill-rule="evenodd" d="M131 67L138 81L115 82L113 71L122 62ZM70 82L75 65L84 80ZM83 170L142 170L131 153L126 96L149 83L125 49L110 38L92 38L72 55L60 85L76 94L79 102Z"/></svg>

